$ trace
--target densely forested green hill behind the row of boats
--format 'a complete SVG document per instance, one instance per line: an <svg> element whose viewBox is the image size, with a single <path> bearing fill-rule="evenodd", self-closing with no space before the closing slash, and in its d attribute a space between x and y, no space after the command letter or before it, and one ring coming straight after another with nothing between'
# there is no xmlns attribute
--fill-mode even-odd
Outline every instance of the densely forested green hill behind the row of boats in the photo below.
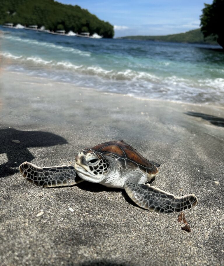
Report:
<svg viewBox="0 0 224 266"><path fill-rule="evenodd" d="M65 5L53 0L0 0L0 24L45 26L46 29L74 32L88 31L113 38L113 25L100 20L80 6Z"/></svg>

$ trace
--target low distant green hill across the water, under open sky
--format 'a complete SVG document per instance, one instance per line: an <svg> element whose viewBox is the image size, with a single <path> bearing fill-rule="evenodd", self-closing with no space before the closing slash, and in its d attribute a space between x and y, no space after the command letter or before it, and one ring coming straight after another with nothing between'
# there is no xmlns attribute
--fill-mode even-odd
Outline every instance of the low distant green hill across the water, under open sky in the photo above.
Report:
<svg viewBox="0 0 224 266"><path fill-rule="evenodd" d="M165 36L125 36L120 37L122 39L142 40L142 41L165 41L165 42L177 42L177 43L207 43L218 45L212 38L206 38L200 29L194 29L185 33L165 35Z"/></svg>

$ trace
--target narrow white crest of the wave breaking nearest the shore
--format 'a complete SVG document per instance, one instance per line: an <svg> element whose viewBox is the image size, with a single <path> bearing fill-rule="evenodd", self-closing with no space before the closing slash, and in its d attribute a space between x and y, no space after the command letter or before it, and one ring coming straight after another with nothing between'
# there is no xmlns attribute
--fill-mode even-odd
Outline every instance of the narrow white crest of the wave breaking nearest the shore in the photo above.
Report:
<svg viewBox="0 0 224 266"><path fill-rule="evenodd" d="M161 77L156 76L155 74L150 74L143 71L134 71L130 69L126 69L124 71L116 71L116 70L108 70L103 69L99 66L85 66L85 65L76 65L72 64L69 61L60 61L56 62L54 60L46 60L41 57L31 56L25 57L22 55L13 55L11 53L0 53L3 57L14 59L19 62L34 62L35 64L39 64L40 66L48 65L49 67L59 67L62 69L68 69L71 71L77 71L80 74L99 76L101 78L105 78L107 80L114 81L132 81L132 82L150 82L153 84L164 84L172 87L185 87L192 86L192 80L186 78L180 78L177 76L170 77ZM218 88L220 90L224 90L224 79L223 78L215 78L215 79L199 79L195 81L195 86L198 88L206 86L211 88Z"/></svg>

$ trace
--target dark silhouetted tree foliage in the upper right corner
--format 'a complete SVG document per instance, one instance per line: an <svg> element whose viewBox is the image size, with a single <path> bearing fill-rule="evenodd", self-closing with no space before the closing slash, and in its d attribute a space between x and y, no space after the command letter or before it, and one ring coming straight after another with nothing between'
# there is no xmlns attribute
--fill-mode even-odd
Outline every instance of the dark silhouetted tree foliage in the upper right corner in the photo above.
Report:
<svg viewBox="0 0 224 266"><path fill-rule="evenodd" d="M201 18L201 31L204 37L210 36L224 48L224 0L213 0L204 4Z"/></svg>

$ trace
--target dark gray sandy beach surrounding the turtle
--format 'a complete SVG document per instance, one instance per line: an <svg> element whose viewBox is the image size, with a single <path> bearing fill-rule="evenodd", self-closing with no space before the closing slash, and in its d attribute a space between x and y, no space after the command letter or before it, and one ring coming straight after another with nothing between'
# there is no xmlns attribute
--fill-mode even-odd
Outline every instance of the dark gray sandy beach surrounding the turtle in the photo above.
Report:
<svg viewBox="0 0 224 266"><path fill-rule="evenodd" d="M0 93L1 265L224 263L223 107L134 99L9 72L1 74ZM197 195L185 211L191 232L181 230L178 213L141 209L124 190L88 182L43 189L18 172L25 160L70 164L78 150L117 139L161 164L152 185Z"/></svg>

